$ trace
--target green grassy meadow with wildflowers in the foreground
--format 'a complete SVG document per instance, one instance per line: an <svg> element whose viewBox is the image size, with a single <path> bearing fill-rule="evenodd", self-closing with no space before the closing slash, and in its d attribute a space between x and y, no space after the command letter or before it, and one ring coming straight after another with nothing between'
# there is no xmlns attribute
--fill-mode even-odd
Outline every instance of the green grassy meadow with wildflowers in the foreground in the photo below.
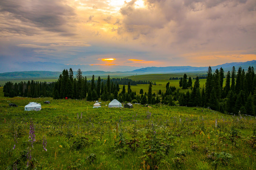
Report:
<svg viewBox="0 0 256 170"><path fill-rule="evenodd" d="M51 104L44 104L46 100ZM9 107L9 102L19 107ZM41 103L42 110L24 111L28 102ZM256 169L255 117L202 108L118 109L106 104L92 109L93 102L84 100L6 98L1 87L0 169ZM33 148L28 141L31 120Z"/></svg>

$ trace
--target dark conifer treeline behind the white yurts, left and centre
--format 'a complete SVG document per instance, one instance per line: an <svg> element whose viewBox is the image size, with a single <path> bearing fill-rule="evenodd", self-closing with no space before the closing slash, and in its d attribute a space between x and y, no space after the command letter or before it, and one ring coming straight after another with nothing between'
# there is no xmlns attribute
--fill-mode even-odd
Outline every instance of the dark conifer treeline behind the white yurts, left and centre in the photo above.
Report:
<svg viewBox="0 0 256 170"><path fill-rule="evenodd" d="M124 97L124 101L130 101L130 95L136 95L134 92L131 94L130 85L149 84L149 81L133 81L128 78L112 78L110 76L106 80L101 79L99 76L94 80L94 75L91 80L87 80L86 76L82 76L82 71L79 69L76 78L73 76L72 68L63 70L59 79L53 83L42 83L36 81L20 82L13 84L7 82L4 85L4 96L24 96L24 97L53 97L54 99L62 99L65 97L71 99L84 99L88 101L109 100L118 98L119 84L123 85L122 93L125 92L125 86L128 85L128 94ZM119 97L120 99L121 97ZM134 97L133 97L134 98ZM123 99L120 99L123 101Z"/></svg>

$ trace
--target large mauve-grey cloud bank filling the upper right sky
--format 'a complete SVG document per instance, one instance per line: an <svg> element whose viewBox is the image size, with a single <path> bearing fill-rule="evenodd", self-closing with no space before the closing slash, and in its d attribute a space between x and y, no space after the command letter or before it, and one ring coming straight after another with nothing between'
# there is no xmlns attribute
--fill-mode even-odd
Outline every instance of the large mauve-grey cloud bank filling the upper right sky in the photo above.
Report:
<svg viewBox="0 0 256 170"><path fill-rule="evenodd" d="M119 34L178 53L256 48L256 0L145 0L146 8L134 3L120 9Z"/></svg>

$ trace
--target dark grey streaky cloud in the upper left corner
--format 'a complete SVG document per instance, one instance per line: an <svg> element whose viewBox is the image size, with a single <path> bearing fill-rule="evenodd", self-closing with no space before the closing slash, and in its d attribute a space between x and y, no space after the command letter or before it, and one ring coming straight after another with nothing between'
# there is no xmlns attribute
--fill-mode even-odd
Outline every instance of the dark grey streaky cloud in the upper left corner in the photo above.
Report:
<svg viewBox="0 0 256 170"><path fill-rule="evenodd" d="M67 33L69 20L75 16L74 9L61 0L1 0L0 14L12 19L9 19L12 25L20 23L21 29L13 27L11 30L8 26L2 28L17 31L18 34L20 31L30 34L29 29L24 30L25 26Z"/></svg>

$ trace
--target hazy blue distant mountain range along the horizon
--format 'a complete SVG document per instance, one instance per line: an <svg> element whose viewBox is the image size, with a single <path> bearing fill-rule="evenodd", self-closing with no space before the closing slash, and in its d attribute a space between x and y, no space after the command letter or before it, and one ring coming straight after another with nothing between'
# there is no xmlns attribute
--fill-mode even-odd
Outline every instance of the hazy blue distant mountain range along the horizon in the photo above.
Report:
<svg viewBox="0 0 256 170"><path fill-rule="evenodd" d="M72 66L76 66L73 68ZM77 69L81 65L68 65L73 69L74 74L76 73ZM249 66L253 66L256 68L256 60L247 61L247 62L232 62L221 64L218 66L211 67L212 71L214 72L215 69L219 69L222 67L225 72L231 71L232 67L238 70L238 67L242 67L245 70ZM36 69L36 68L35 68ZM47 68L45 68L47 69ZM82 70L82 68L81 68ZM119 75L119 76L129 76L129 75L136 75L136 74L152 74L152 73L188 73L188 72L195 72L195 73L206 73L208 67L192 67L192 66L171 66L171 67L147 67L147 68L139 68L133 71L116 71L116 72L109 72L109 71L82 71L83 76L107 76L107 75ZM0 79L17 79L17 78L57 78L62 72L60 71L20 71L20 72L7 72L7 73L0 73Z"/></svg>

